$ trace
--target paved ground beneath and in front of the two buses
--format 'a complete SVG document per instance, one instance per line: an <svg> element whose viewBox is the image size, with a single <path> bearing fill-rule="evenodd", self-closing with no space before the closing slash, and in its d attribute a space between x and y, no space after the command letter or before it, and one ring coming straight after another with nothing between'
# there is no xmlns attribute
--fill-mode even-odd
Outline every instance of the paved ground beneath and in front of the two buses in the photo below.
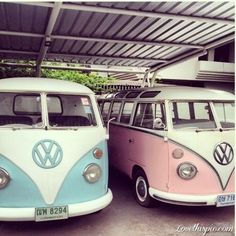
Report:
<svg viewBox="0 0 236 236"><path fill-rule="evenodd" d="M158 203L140 207L131 194L129 179L111 171L114 199L97 214L52 222L0 222L0 235L24 236L232 236L234 208L182 207ZM208 227L211 232L204 233ZM229 227L225 232L222 227ZM213 232L219 230L219 232ZM233 230L234 231L234 230Z"/></svg>

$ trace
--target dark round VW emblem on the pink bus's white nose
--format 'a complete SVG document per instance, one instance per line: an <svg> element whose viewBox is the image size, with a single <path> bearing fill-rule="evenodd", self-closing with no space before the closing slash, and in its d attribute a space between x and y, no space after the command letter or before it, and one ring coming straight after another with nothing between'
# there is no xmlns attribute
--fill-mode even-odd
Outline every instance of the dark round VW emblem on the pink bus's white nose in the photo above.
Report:
<svg viewBox="0 0 236 236"><path fill-rule="evenodd" d="M220 143L215 147L214 158L221 165L228 165L234 159L233 148L228 143Z"/></svg>

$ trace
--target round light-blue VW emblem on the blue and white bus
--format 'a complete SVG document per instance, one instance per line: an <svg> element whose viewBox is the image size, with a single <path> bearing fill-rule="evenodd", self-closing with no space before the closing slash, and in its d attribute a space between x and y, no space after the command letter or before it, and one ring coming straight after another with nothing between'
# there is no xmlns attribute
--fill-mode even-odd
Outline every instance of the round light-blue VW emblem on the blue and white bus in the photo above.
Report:
<svg viewBox="0 0 236 236"><path fill-rule="evenodd" d="M60 164L63 152L57 142L44 139L34 145L32 157L38 166L44 169L50 169Z"/></svg>

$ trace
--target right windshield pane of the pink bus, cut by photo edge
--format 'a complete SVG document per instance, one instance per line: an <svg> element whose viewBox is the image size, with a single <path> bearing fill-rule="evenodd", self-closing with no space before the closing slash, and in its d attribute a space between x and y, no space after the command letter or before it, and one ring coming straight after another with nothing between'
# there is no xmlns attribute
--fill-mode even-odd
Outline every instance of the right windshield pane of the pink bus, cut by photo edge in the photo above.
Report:
<svg viewBox="0 0 236 236"><path fill-rule="evenodd" d="M235 104L234 102L214 102L217 117L222 128L235 127Z"/></svg>

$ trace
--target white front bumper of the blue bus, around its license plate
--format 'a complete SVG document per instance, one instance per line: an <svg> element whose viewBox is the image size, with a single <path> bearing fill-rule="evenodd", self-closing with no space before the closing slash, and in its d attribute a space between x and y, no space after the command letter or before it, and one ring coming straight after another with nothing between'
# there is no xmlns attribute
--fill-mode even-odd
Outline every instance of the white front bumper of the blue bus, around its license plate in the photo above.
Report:
<svg viewBox="0 0 236 236"><path fill-rule="evenodd" d="M95 200L90 200L87 202L76 203L76 204L69 204L68 218L97 212L108 206L111 201L112 201L112 192L110 189L108 189L105 195ZM55 219L56 218L44 219L44 220L55 220ZM35 220L36 220L35 208L32 207L0 208L0 221L35 221Z"/></svg>

